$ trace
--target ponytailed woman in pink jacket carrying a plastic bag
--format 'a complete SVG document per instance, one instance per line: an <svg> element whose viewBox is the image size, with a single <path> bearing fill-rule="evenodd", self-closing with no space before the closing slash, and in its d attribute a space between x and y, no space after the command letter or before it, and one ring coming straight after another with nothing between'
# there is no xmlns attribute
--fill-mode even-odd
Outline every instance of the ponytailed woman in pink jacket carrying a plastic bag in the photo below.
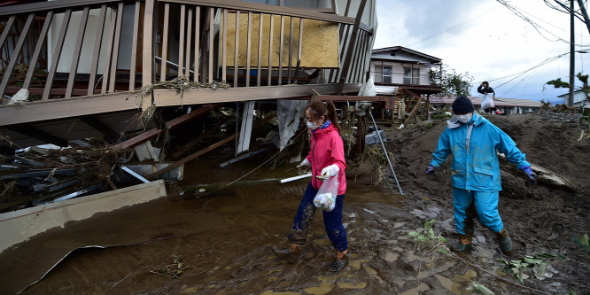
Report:
<svg viewBox="0 0 590 295"><path fill-rule="evenodd" d="M307 127L311 130L310 151L307 158L298 167L311 167L312 180L301 198L299 209L289 234L288 248L278 250L273 247L277 256L286 258L292 263L299 260L306 243L307 234L314 219L314 197L322 186L322 181L316 175L338 175L338 196L336 206L331 212L323 211L323 223L326 233L337 251L336 260L330 264L332 271L339 271L346 265L348 241L346 230L342 225L342 206L346 190L344 144L340 137L340 125L336 114L336 107L332 102L315 100L306 107Z"/></svg>

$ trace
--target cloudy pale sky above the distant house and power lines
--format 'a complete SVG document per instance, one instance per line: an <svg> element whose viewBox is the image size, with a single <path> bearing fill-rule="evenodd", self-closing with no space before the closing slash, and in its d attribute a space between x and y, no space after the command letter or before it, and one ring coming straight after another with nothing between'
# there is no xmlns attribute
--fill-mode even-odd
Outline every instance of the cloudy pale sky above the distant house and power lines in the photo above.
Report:
<svg viewBox="0 0 590 295"><path fill-rule="evenodd" d="M557 96L568 90L544 84L556 78L569 82L570 55L538 65L570 51L566 43L570 40L569 15L549 8L543 0L509 4L536 22L542 34L494 0L377 0L379 27L374 49L403 46L441 58L458 73L469 72L475 78L473 96L478 95L481 82L489 81L496 97L563 103ZM578 19L575 32L576 50L590 52L590 35ZM576 53L575 73L588 74L588 66L590 53ZM503 78L508 75L512 76ZM508 82L510 79L514 80ZM581 86L577 78L576 86Z"/></svg>

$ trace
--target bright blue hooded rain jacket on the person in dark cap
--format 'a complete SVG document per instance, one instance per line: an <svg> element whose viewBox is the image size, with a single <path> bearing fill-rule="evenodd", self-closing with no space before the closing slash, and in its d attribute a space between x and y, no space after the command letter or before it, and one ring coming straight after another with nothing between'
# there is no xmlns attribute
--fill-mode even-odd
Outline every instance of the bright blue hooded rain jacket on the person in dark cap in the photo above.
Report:
<svg viewBox="0 0 590 295"><path fill-rule="evenodd" d="M517 168L531 166L524 153L516 148L515 142L500 128L478 113L467 124L454 117L439 137L437 150L432 153L431 165L440 167L453 153L451 175L453 186L463 190L500 191L500 165L496 150L506 156L508 162ZM473 125L469 149L466 145L467 130Z"/></svg>

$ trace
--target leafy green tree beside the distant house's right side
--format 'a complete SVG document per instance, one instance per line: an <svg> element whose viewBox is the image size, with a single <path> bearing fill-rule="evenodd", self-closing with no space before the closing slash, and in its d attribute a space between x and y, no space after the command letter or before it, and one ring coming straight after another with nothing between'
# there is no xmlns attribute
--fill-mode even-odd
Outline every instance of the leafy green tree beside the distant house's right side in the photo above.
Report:
<svg viewBox="0 0 590 295"><path fill-rule="evenodd" d="M469 96L473 80L469 72L457 73L454 68L446 65L442 66L440 72L431 70L431 83L442 87L443 96Z"/></svg>

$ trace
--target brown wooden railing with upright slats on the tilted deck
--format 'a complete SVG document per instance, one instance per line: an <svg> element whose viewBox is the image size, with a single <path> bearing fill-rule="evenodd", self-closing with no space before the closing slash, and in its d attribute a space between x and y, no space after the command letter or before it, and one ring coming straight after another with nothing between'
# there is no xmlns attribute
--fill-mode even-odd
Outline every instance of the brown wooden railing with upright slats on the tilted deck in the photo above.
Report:
<svg viewBox="0 0 590 295"><path fill-rule="evenodd" d="M374 32L348 17L349 6L346 16L236 0L6 6L0 97L19 89L34 100L104 95L181 75L244 88L363 82ZM306 46L320 37L306 35L308 24L336 26L335 64L306 62Z"/></svg>

